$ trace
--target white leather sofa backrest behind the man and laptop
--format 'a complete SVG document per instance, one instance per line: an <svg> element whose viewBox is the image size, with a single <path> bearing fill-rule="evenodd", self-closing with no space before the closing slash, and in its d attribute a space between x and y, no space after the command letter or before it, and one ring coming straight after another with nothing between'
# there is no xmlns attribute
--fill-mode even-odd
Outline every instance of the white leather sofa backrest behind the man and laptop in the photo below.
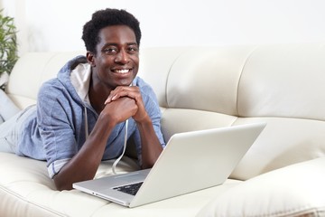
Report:
<svg viewBox="0 0 325 217"><path fill-rule="evenodd" d="M140 53L139 76L157 94L166 141L177 132L267 122L231 175L237 179L324 156L323 44L146 48ZM42 82L78 54L83 53L26 53L14 66L7 93L21 108L35 103Z"/></svg>

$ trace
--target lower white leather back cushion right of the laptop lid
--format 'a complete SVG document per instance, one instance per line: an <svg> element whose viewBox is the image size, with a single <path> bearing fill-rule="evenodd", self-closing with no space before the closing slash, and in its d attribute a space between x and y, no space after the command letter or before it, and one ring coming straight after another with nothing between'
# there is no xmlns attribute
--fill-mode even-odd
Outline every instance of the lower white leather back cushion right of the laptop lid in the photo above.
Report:
<svg viewBox="0 0 325 217"><path fill-rule="evenodd" d="M234 125L267 126L231 174L246 180L287 165L325 156L325 122L303 118L237 118Z"/></svg>

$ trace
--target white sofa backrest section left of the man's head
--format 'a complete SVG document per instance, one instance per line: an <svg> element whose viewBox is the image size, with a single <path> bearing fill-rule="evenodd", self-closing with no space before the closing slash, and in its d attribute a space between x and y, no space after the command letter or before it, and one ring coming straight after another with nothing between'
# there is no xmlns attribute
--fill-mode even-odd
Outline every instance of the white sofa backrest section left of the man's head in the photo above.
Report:
<svg viewBox="0 0 325 217"><path fill-rule="evenodd" d="M5 87L8 96L20 109L35 104L42 83L56 77L67 61L80 54L85 54L85 52L28 52L23 54L10 73Z"/></svg>

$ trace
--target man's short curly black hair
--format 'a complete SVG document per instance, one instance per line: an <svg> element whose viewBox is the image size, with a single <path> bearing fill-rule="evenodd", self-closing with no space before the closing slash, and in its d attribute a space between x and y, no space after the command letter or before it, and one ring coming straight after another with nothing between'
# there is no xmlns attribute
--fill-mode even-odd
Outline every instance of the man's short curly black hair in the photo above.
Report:
<svg viewBox="0 0 325 217"><path fill-rule="evenodd" d="M98 33L101 29L112 25L126 25L135 32L135 41L140 46L140 23L133 14L121 9L107 8L92 14L91 20L83 26L82 40L88 52L96 54L96 46L99 42Z"/></svg>

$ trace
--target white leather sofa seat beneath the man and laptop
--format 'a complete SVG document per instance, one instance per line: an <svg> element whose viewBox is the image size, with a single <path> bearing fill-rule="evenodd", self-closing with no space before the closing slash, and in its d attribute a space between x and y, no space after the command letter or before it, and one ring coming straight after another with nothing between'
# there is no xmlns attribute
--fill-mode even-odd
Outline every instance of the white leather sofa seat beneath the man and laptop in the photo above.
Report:
<svg viewBox="0 0 325 217"><path fill-rule="evenodd" d="M96 178L110 175L112 164L103 162ZM135 161L127 157L116 166L118 173L135 169ZM195 216L215 195L241 183L229 179L216 187L130 209L78 190L56 191L42 161L0 152L0 171L0 216Z"/></svg>

